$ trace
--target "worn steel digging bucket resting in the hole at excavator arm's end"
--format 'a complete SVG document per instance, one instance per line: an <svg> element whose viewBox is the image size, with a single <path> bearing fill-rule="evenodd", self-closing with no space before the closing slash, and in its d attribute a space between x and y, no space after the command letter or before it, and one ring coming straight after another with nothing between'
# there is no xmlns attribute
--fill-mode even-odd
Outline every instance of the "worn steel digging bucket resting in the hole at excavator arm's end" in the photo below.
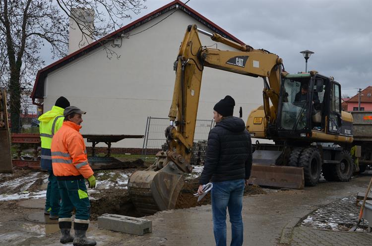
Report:
<svg viewBox="0 0 372 246"><path fill-rule="evenodd" d="M151 215L174 209L184 177L163 171L136 171L128 181L130 199L138 212Z"/></svg>

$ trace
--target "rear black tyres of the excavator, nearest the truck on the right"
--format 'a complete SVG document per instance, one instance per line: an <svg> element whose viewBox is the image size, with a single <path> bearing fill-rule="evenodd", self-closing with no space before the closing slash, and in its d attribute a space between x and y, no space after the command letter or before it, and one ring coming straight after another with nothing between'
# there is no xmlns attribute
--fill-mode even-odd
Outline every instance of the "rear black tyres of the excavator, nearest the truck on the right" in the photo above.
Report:
<svg viewBox="0 0 372 246"><path fill-rule="evenodd" d="M349 151L342 151L340 164L323 167L323 176L327 181L348 182L353 175L354 162Z"/></svg>

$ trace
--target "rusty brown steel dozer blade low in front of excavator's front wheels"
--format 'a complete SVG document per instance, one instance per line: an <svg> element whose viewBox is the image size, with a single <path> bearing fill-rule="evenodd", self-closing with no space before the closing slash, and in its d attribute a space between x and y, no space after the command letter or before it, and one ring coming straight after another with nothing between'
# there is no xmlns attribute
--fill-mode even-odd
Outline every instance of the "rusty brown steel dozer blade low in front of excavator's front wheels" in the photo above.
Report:
<svg viewBox="0 0 372 246"><path fill-rule="evenodd" d="M249 184L303 189L304 169L298 167L252 164Z"/></svg>

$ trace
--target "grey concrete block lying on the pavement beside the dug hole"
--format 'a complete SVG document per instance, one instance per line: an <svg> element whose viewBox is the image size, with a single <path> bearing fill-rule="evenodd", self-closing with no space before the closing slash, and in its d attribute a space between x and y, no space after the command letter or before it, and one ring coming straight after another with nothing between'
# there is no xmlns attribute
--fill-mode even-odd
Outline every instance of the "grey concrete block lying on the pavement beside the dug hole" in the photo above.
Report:
<svg viewBox="0 0 372 246"><path fill-rule="evenodd" d="M152 221L118 214L103 214L98 217L98 227L142 236L152 232Z"/></svg>

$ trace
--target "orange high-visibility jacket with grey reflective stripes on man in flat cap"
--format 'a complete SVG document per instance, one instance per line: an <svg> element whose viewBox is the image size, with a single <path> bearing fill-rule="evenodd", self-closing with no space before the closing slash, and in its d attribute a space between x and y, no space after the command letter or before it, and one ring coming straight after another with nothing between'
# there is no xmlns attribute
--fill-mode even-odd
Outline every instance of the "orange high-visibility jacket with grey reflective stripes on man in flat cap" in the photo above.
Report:
<svg viewBox="0 0 372 246"><path fill-rule="evenodd" d="M81 126L65 121L52 139L52 165L55 176L79 176L85 179L93 175L88 164Z"/></svg>

